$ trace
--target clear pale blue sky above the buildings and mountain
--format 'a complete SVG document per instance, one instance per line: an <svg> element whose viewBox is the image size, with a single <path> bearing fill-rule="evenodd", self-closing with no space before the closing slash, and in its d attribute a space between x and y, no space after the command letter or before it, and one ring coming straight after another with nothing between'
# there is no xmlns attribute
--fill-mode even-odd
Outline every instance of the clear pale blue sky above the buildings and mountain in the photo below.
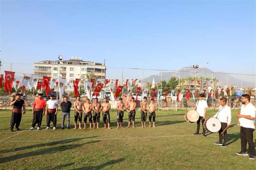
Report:
<svg viewBox="0 0 256 170"><path fill-rule="evenodd" d="M206 67L214 72L256 74L254 0L1 0L0 5L4 63L62 55L106 59L107 67L179 70L209 62ZM3 64L1 73L9 68ZM115 78L108 70L106 78Z"/></svg>

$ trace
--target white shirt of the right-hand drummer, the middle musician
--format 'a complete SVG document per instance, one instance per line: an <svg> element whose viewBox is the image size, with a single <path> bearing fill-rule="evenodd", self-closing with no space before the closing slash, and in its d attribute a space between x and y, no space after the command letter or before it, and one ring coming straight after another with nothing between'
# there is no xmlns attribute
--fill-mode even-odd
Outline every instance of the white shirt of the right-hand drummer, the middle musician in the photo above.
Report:
<svg viewBox="0 0 256 170"><path fill-rule="evenodd" d="M219 111L213 116L217 117L217 119L220 120L222 123L231 123L231 109L230 107L226 104L224 107L219 107Z"/></svg>

